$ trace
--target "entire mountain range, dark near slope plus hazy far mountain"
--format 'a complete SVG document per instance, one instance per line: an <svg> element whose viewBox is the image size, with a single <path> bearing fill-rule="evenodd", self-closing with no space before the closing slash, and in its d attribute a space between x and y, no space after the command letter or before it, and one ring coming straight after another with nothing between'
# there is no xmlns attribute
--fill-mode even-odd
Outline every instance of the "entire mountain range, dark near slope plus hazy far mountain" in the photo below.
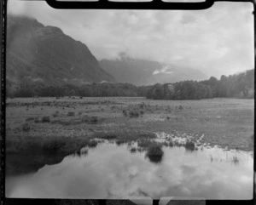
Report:
<svg viewBox="0 0 256 205"><path fill-rule="evenodd" d="M183 80L203 80L201 71L164 65L152 60L96 60L84 43L64 34L60 28L44 26L38 20L8 16L6 76L10 84L44 85L86 83L132 83L150 85Z"/></svg>

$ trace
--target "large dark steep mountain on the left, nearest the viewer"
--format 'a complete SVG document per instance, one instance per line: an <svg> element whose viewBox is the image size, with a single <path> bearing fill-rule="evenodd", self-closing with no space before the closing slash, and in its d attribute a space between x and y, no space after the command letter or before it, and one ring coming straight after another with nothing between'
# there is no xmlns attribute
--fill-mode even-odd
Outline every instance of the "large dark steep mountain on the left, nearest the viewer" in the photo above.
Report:
<svg viewBox="0 0 256 205"><path fill-rule="evenodd" d="M14 84L41 82L46 85L113 82L89 48L60 28L38 20L7 18L6 76Z"/></svg>

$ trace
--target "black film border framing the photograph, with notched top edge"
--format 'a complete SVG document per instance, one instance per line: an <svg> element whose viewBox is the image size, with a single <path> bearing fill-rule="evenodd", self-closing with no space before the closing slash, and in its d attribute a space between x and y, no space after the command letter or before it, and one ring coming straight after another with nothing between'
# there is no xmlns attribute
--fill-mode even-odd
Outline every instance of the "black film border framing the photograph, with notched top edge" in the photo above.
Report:
<svg viewBox="0 0 256 205"><path fill-rule="evenodd" d="M26 1L26 0L24 0ZM29 0L27 0L29 1ZM30 0L33 1L33 0ZM34 0L35 1L35 0ZM185 9L185 10L200 10L200 9L208 9L210 8L214 2L250 2L253 3L253 8L255 9L255 2L256 0L245 0L245 1L238 1L238 0L206 0L205 2L199 2L199 3L167 3L162 2L161 0L152 0L151 2L108 2L108 0L99 0L98 2L72 2L72 1L56 1L56 0L45 0L49 6L55 8L55 9L159 9L159 10L172 10L172 9ZM15 204L59 204L59 202L63 201L63 204L90 204L90 205L128 205L128 204L134 204L133 202L129 200L80 200L80 199L26 199L26 198L6 198L5 197L5 191L4 191L4 185L5 185L5 103L6 103L6 95L5 95L5 49L6 49L6 18L7 18L7 3L8 0L0 0L0 15L1 15L1 21L0 21L0 27L1 27L1 155L0 155L0 162L1 162L1 168L0 168L0 201L1 204L6 205L15 205ZM253 11L253 19L254 19L254 69L256 64L256 55L255 55L255 14ZM254 76L255 77L255 76ZM254 84L255 85L255 84ZM255 97L254 97L255 100ZM254 105L254 117L255 117L255 105ZM255 122L254 122L255 123ZM254 160L255 160L255 136L254 136ZM253 168L254 168L254 183L253 183L253 199L252 200L206 200L206 204L248 204L253 205L256 204L255 201L255 161L253 161ZM157 205L159 203L158 200L154 200L153 204ZM180 204L201 204L198 202L191 202L183 201L183 203Z"/></svg>

